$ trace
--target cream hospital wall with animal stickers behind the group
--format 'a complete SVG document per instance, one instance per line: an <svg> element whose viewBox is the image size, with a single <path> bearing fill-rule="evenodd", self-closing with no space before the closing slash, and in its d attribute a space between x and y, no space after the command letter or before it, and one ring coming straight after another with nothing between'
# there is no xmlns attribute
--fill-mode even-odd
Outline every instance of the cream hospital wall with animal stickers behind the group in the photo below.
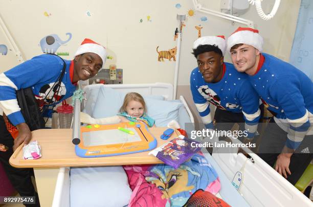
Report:
<svg viewBox="0 0 313 207"><path fill-rule="evenodd" d="M245 0L242 0L245 1ZM269 13L275 0L264 0L262 7ZM295 34L300 0L281 1L275 17L262 20L251 6L240 17L252 20L264 38L264 52L288 61ZM220 1L199 0L204 7L220 10ZM188 12L189 11L189 12ZM159 51L174 48L174 31L178 26L177 14L186 14L182 34L180 72L178 74L177 96L184 95L190 105L196 122L199 117L189 90L189 76L196 67L191 54L192 43L198 37L195 26L201 25L202 36L229 36L237 27L243 26L232 21L198 12L190 0L115 0L115 1L0 1L0 15L15 40L23 58L31 59L43 53L40 40L56 34L64 41L57 52L72 59L80 42L85 38L103 44L111 59L109 64L123 68L123 83L168 82L173 84L175 61L158 61ZM8 47L7 55L0 53L0 72L17 65L12 45L0 29L0 44ZM226 61L230 61L226 54Z"/></svg>

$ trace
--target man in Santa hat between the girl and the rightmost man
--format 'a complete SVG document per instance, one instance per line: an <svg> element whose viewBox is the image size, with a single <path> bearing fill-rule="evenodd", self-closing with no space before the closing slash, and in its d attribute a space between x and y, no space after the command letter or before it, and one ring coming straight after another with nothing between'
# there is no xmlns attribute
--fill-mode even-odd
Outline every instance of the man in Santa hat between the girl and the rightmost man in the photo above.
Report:
<svg viewBox="0 0 313 207"><path fill-rule="evenodd" d="M193 101L207 129L215 129L216 123L218 130L228 131L234 123L245 123L240 129L246 130L246 138L253 139L261 114L259 97L247 75L223 61L225 50L224 36L200 37L193 43L198 65L190 75ZM210 103L216 106L214 122Z"/></svg>

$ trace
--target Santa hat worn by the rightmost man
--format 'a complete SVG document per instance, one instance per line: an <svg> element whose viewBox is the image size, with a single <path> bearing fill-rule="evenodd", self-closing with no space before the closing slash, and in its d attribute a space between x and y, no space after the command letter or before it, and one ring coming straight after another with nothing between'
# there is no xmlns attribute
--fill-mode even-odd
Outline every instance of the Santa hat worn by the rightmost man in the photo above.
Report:
<svg viewBox="0 0 313 207"><path fill-rule="evenodd" d="M259 35L258 30L238 27L238 29L227 39L227 51L230 52L230 49L235 44L241 43L249 44L262 52L263 38Z"/></svg>

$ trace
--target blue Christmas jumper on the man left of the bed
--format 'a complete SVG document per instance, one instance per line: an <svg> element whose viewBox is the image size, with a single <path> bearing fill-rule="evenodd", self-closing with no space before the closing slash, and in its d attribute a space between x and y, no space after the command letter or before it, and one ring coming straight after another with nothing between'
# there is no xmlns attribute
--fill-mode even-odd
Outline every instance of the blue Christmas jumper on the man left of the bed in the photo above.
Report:
<svg viewBox="0 0 313 207"><path fill-rule="evenodd" d="M56 88L51 87L57 82L64 63L55 55L36 56L0 74L0 107L14 126L25 122L17 104L16 90L32 87L40 109L54 100L58 103L73 95L76 86L70 78L71 61L65 60L65 63L66 71L58 94Z"/></svg>

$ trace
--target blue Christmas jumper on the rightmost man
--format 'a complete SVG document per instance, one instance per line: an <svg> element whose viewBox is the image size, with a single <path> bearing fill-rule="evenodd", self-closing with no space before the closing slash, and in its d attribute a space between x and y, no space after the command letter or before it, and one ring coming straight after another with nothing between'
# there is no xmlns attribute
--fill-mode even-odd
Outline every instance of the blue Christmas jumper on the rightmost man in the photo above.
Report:
<svg viewBox="0 0 313 207"><path fill-rule="evenodd" d="M313 83L293 65L262 55L262 67L249 80L265 106L276 113L275 122L288 132L286 146L297 149L306 134L313 134Z"/></svg>

